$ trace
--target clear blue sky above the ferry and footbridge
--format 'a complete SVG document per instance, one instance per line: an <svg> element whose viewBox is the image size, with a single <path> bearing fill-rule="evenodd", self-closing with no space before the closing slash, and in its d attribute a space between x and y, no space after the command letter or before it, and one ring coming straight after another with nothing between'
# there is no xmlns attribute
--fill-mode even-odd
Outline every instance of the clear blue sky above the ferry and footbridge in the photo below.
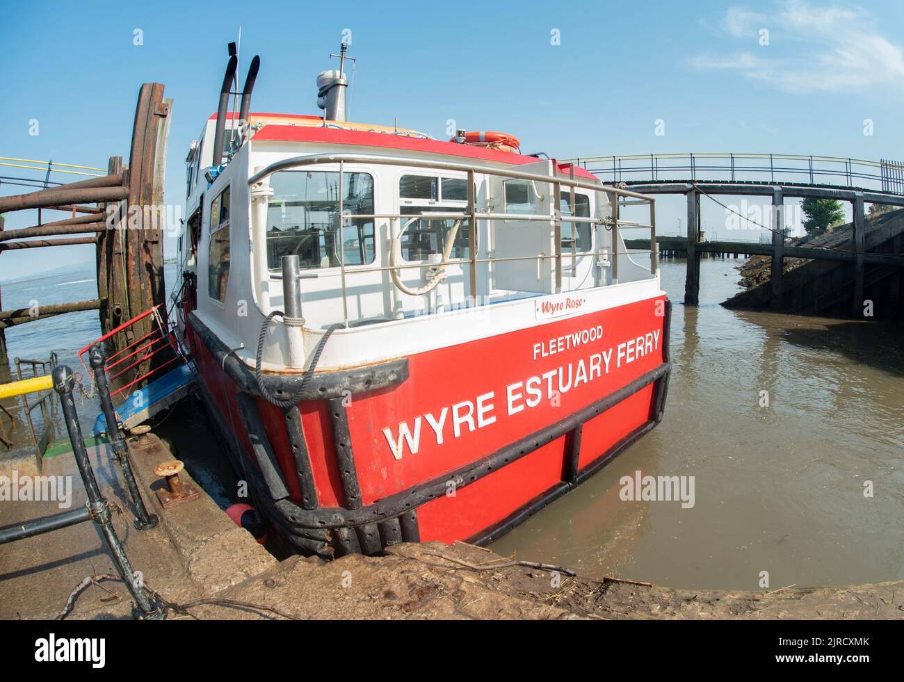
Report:
<svg viewBox="0 0 904 682"><path fill-rule="evenodd" d="M106 167L110 155L127 157L139 86L162 82L174 98L166 201L181 202L188 145L216 107L226 43L241 25L240 78L253 54L262 61L257 111L319 113L315 76L331 68L327 55L349 29L350 54L359 59L356 121L399 117L400 126L444 137L454 118L467 129L512 132L525 151L559 158L685 151L901 158L904 39L893 27L902 20L897 0L7 3L0 156ZM32 119L39 135L29 135ZM665 135L655 135L657 119ZM873 135L863 134L864 119ZM30 173L0 166L0 175L23 174ZM0 194L11 193L0 184ZM682 200L660 206L659 224L674 233ZM9 215L7 229L35 218ZM724 210L704 205L703 221L718 231ZM91 259L91 247L5 252L0 280Z"/></svg>

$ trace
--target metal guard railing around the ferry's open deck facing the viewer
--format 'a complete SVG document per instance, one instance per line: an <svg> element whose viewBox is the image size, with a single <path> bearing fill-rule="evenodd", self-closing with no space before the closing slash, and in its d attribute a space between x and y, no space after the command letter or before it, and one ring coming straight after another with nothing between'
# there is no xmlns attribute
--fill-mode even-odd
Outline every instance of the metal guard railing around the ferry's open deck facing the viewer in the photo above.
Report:
<svg viewBox="0 0 904 682"><path fill-rule="evenodd" d="M341 254L340 264L339 264L339 276L341 278L341 294L343 301L343 318L345 326L348 326L349 317L348 317L348 301L347 301L347 286L346 286L346 277L349 274L360 275L364 273L375 273L375 272L387 272L390 270L403 270L403 269L416 269L422 268L424 266L439 268L445 266L468 266L468 274L470 280L470 291L472 295L476 297L477 290L477 266L481 264L494 264L494 263L503 263L503 262L512 262L512 261L525 261L532 260L537 261L538 264L543 263L546 260L553 260L555 264L555 291L556 293L561 292L562 289L562 265L563 258L570 257L571 258L571 266L572 271L577 266L577 258L581 256L607 256L609 254L604 252L596 252L596 251L586 251L579 252L576 250L575 244L577 242L577 233L575 231L575 224L577 223L591 223L591 224L604 224L606 225L606 229L609 229L612 233L612 278L618 279L618 256L629 255L628 252L619 253L617 250L619 237L618 230L620 225L625 225L630 228L641 228L641 229L649 229L650 230L650 244L655 245L656 243L656 218L655 218L655 199L651 196L647 196L645 194L640 194L638 192L631 192L630 190L626 190L623 188L611 187L607 185L602 185L599 182L593 182L589 180L579 180L575 178L574 171L572 169L570 176L568 178L562 178L558 175L547 176L541 175L538 173L524 173L523 171L518 171L515 168L492 168L485 166L478 166L470 163L455 163L455 162L436 162L426 159L416 159L416 158L405 158L405 157L391 157L391 156L375 156L371 154L310 154L306 156L296 156L289 159L284 159L282 161L278 161L276 163L271 163L266 168L262 169L258 173L252 175L248 181L249 186L251 188L251 201L256 201L255 199L255 186L264 183L267 178L278 171L284 171L292 168L298 168L302 166L310 166L324 163L338 163L339 165L339 179L338 186L343 187L343 175L345 173L345 164L346 163L360 163L360 164L381 164L381 165L397 165L403 167L414 167L414 168L425 168L435 171L457 171L467 173L467 206L465 210L462 211L448 211L448 212L421 212L421 213L362 213L362 214L353 214L353 215L343 215L343 199L342 194L339 192L336 215L342 216L343 224L345 221L350 220L391 220L395 223L396 220L400 221L403 219L408 220L456 220L460 218L466 218L469 220L469 224L472 226L472 229L468 230L468 253L469 257L466 258L449 258L447 260L441 260L436 263L432 262L406 262L401 264L395 264L391 266L354 266L353 269L349 270L345 265L344 259L344 248L338 249ZM491 210L485 210L480 212L477 210L476 206L476 175L493 175L496 177L502 177L507 180L527 180L531 182L539 182L543 184L549 184L552 186L552 213L551 215L536 215L536 214L522 214L522 213L499 213ZM612 216L609 219L601 220L599 218L589 217L589 216L563 216L561 214L561 197L562 197L562 188L569 188L568 192L571 195L571 203L570 206L572 210L575 207L575 199L574 193L576 189L589 190L592 192L603 192L608 195L610 204L612 206ZM267 194L260 193L259 197L264 198L266 201ZM620 200L626 200L624 202ZM257 200L259 201L259 200ZM637 204L646 204L650 209L650 222L648 224L638 223L634 221L621 221L618 218L618 206L620 204L627 205L628 203L632 205ZM252 214L254 211L252 210ZM553 254L536 254L533 256L514 256L514 257L477 257L477 248L476 248L476 221L477 220L517 220L517 221L541 221L541 222L549 222L551 224L552 236L555 243L555 253ZM570 252L566 255L562 251L562 223L570 224L570 232L571 232L571 248ZM400 222L398 223L400 226ZM395 230L394 234L399 234L399 230ZM340 239L340 242L342 240ZM655 275L657 269L657 258L656 258L656 249L653 246L650 251L650 274Z"/></svg>

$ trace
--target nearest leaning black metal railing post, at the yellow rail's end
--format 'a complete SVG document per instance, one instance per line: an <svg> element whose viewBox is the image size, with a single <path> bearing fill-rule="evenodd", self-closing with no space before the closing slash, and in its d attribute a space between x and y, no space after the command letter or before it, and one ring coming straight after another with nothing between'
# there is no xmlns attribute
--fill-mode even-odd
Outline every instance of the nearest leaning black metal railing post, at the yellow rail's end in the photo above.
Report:
<svg viewBox="0 0 904 682"><path fill-rule="evenodd" d="M101 494L98 481L94 478L94 470L85 450L85 442L82 440L79 416L75 410L75 401L72 399L72 384L74 377L72 370L65 365L58 365L53 369L53 388L60 396L62 414L66 420L66 431L72 444L72 453L75 455L75 463L79 467L81 480L85 484L88 493L88 509L91 519L98 524L104 539L107 540L110 554L117 565L119 575L125 581L129 593L135 599L137 608L133 610L136 618L146 620L163 620L166 617L166 607L156 596L149 595L144 586L138 581L135 571L126 556L126 550L119 543L113 523L110 520L110 509Z"/></svg>

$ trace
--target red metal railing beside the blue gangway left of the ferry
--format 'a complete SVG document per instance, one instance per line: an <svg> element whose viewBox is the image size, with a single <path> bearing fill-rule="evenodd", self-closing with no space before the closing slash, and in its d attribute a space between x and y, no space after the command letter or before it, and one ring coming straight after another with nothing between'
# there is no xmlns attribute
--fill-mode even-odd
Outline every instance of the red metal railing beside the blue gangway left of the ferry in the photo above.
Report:
<svg viewBox="0 0 904 682"><path fill-rule="evenodd" d="M164 351L166 349L173 351L173 357L165 360L161 364L157 365L154 368L147 369L144 373L139 373L137 377L131 378L127 384L121 386L115 391L110 392L110 397L116 397L118 394L125 391L127 388L131 388L135 386L137 383L150 378L152 375L159 375L161 370L169 365L172 365L174 362L183 363L185 361L185 357L182 353L182 350L179 348L179 343L176 341L175 335L170 332L163 322L163 319L160 317L160 308L161 304L155 305L153 308L149 308L144 313L137 315L137 317L133 317L128 322L123 322L116 329L111 330L101 336L99 339L95 341L91 341L87 346L81 349L78 353L79 360L81 360L81 366L85 368L85 373L87 376L93 376L93 373L89 371L88 366L85 364L84 354L87 353L92 346L97 345L99 343L103 343L108 339L116 336L118 333L125 332L129 327L137 324L137 322L141 322L146 317L153 317L153 329L151 332L146 333L140 339L136 339L131 343L127 344L122 349L118 350L115 353L110 353L107 356L107 361L104 363L104 369L107 372L107 378L111 384L115 382L118 378L127 374L130 371L139 371L142 364L144 364L147 360L153 358L157 353ZM119 367L124 362L130 360L125 367ZM118 368L115 370L115 373L111 374L111 370L114 368Z"/></svg>

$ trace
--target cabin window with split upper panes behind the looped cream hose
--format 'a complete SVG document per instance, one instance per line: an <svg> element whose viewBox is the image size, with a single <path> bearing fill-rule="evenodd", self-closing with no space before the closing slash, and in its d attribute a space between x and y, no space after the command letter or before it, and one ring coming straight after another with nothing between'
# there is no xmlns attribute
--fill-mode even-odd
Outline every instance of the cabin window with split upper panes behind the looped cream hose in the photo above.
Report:
<svg viewBox="0 0 904 682"><path fill-rule="evenodd" d="M399 181L400 214L457 213L467 208L467 181L464 178L439 178L429 175L402 175ZM401 238L401 256L405 260L427 260L431 254L441 254L457 219L428 219L411 221ZM470 257L470 220L463 218L458 226L450 258Z"/></svg>

